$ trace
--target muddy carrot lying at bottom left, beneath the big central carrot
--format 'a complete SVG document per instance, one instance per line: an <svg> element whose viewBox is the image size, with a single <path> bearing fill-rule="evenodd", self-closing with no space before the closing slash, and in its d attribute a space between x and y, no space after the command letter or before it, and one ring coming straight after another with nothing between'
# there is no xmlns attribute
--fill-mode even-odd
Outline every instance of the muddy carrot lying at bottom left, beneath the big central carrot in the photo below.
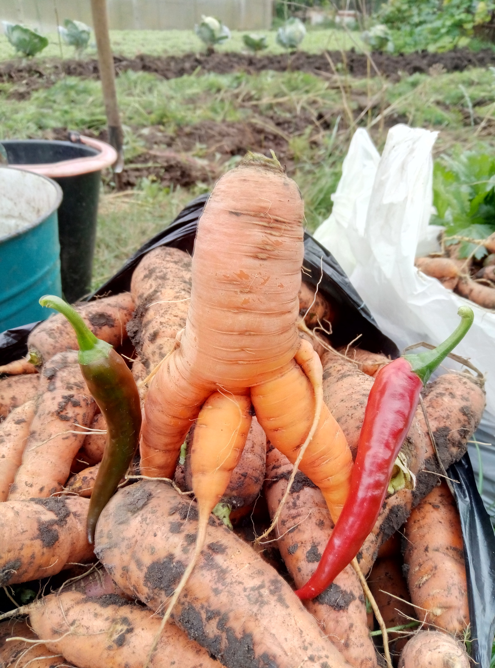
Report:
<svg viewBox="0 0 495 668"><path fill-rule="evenodd" d="M141 668L160 625L159 617L135 603L107 594L77 592L45 596L29 621L47 647L79 668ZM153 657L153 668L217 668L205 649L169 625Z"/></svg>

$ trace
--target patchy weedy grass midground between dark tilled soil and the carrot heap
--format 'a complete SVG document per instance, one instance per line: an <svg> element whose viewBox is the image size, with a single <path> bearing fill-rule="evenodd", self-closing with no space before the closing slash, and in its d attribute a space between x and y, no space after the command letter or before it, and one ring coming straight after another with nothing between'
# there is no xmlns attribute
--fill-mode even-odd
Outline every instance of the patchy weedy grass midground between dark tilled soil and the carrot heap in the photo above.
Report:
<svg viewBox="0 0 495 668"><path fill-rule="evenodd" d="M106 126L99 81L66 77L51 88L33 92L26 100L9 97L11 91L11 84L0 86L0 138L50 137L54 128L97 134ZM478 142L486 152L495 149L495 76L490 69L415 74L397 83L379 77L353 79L345 73L324 79L300 71L205 73L169 80L126 71L117 78L117 94L128 163L146 150L150 127L174 137L183 128L206 121L219 125L246 121L278 124L288 139L284 160L304 195L310 231L332 210L331 196L358 126L368 127L379 150L387 128L397 122L440 131L436 154L450 152L458 145L472 148ZM286 125L292 130L284 130ZM207 160L215 173L227 166L225 156L209 151L205 144L197 144L189 155ZM134 197L114 198L111 181L107 182L100 208L93 285L111 276L146 238L172 220L187 200L211 185L198 183L193 188L169 191L144 180Z"/></svg>

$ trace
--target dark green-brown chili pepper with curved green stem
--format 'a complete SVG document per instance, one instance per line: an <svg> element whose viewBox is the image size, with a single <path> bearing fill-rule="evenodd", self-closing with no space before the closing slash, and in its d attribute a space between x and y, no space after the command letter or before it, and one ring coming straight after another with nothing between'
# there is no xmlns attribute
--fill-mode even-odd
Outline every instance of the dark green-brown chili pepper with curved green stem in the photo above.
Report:
<svg viewBox="0 0 495 668"><path fill-rule="evenodd" d="M95 337L77 311L53 295L41 297L39 303L65 315L74 328L81 371L107 423L107 444L87 514L87 539L92 544L101 511L117 489L137 449L141 430L139 391L122 357L109 343Z"/></svg>

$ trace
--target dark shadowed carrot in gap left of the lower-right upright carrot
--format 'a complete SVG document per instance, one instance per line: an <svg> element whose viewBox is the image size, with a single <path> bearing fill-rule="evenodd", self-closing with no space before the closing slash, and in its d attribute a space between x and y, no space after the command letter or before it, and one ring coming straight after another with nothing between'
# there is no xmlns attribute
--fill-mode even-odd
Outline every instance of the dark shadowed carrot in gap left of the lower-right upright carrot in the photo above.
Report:
<svg viewBox="0 0 495 668"><path fill-rule="evenodd" d="M376 560L368 576L368 586L388 629L402 626L410 621L408 618L411 617L412 607L407 601L411 599L406 579L402 574L400 552ZM398 659L407 642L407 637L389 631L388 641L390 655L393 659Z"/></svg>

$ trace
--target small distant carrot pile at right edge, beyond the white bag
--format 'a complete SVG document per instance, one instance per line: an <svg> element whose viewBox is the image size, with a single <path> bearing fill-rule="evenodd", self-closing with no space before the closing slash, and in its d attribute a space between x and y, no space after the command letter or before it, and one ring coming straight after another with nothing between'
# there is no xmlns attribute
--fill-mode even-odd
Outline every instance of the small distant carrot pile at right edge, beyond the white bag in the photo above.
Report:
<svg viewBox="0 0 495 668"><path fill-rule="evenodd" d="M474 241L474 240L473 240ZM488 255L476 259L475 253L460 256L462 244L445 246L444 253L417 257L416 267L427 276L438 279L448 290L484 307L495 309L495 234L476 241L475 247L486 248Z"/></svg>

